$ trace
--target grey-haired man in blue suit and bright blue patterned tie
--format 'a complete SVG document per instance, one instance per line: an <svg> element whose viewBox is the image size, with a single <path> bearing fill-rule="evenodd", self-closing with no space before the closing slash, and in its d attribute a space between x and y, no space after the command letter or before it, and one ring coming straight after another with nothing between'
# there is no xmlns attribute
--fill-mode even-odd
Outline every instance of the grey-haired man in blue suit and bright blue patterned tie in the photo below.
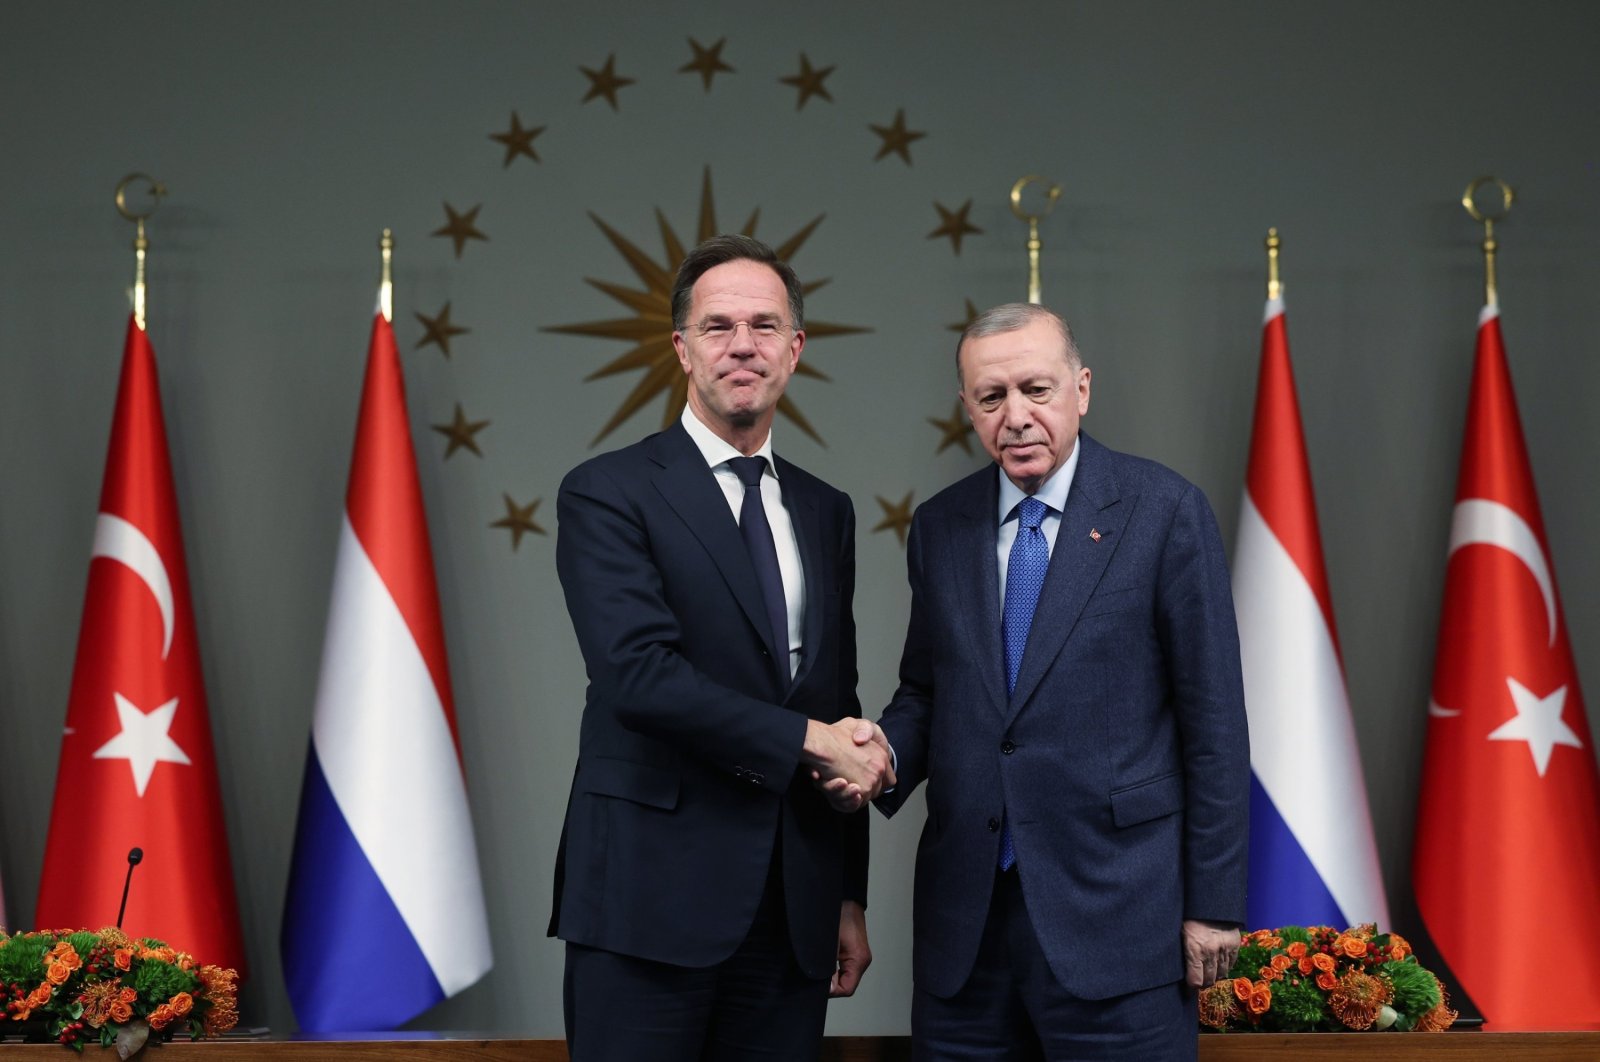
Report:
<svg viewBox="0 0 1600 1062"><path fill-rule="evenodd" d="M1216 520L1174 472L1078 432L1090 369L1050 310L989 310L957 371L998 470L917 510L880 720L898 787L878 808L928 784L915 1057L1192 1059L1194 987L1226 974L1245 916L1250 741Z"/></svg>

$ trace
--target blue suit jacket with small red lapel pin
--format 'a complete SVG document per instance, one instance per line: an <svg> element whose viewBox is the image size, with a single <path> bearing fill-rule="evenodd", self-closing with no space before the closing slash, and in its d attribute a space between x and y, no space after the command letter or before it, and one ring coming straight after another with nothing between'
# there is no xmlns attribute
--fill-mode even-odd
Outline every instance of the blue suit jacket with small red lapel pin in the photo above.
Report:
<svg viewBox="0 0 1600 1062"><path fill-rule="evenodd" d="M1027 913L1067 992L1184 976L1184 918L1245 918L1250 741L1222 542L1202 493L1078 435L1014 696L995 571L998 469L918 507L910 627L882 725L928 784L914 976L954 995L1011 819Z"/></svg>

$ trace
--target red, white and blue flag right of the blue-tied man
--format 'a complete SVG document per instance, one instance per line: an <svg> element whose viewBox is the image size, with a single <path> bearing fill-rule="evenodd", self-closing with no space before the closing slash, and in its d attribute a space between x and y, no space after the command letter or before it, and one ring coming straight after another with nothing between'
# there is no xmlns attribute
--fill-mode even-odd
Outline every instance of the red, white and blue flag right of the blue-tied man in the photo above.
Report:
<svg viewBox="0 0 1600 1062"><path fill-rule="evenodd" d="M1282 299L1262 325L1234 609L1250 717L1250 926L1387 929Z"/></svg>

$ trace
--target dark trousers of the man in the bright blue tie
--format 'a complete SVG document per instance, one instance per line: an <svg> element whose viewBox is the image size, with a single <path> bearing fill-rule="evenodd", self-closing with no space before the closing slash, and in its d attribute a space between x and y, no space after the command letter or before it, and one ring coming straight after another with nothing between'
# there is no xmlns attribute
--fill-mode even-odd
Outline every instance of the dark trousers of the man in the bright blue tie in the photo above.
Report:
<svg viewBox="0 0 1600 1062"><path fill-rule="evenodd" d="M995 878L962 990L947 1000L912 993L917 1062L1192 1062L1198 1028L1194 993L1182 982L1110 1000L1067 995L1038 947L1016 870Z"/></svg>

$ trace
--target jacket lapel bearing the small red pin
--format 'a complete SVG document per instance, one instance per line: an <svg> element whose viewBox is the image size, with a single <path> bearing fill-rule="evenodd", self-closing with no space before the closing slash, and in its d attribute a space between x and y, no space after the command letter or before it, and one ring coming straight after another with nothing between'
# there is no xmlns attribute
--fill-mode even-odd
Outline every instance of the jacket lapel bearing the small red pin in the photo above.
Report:
<svg viewBox="0 0 1600 1062"><path fill-rule="evenodd" d="M1083 453L1078 454L1078 469L1072 477L1072 489L1067 491L1067 509L1061 513L1056 545L1050 553L1045 587L1027 630L1022 667L1006 710L1008 723L1027 704L1050 670L1050 664L1061 654L1078 613L1083 611L1106 565L1110 563L1110 555L1122 542L1122 529L1128 518L1130 507L1118 504L1122 496L1107 461L1107 449L1082 432L1078 446ZM1091 537L1091 531L1099 537ZM1003 680L1000 688L1005 688Z"/></svg>

